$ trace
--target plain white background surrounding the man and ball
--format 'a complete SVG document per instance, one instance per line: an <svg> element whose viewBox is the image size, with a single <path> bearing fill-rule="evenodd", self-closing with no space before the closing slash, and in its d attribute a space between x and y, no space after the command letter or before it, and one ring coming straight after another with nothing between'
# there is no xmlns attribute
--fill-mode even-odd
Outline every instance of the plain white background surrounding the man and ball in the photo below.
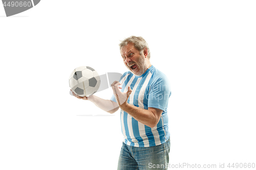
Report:
<svg viewBox="0 0 256 170"><path fill-rule="evenodd" d="M116 169L120 117L69 94L71 71L126 71L142 36L167 75L170 163L256 163L255 1L46 1L0 5L0 169ZM96 93L109 99L112 90ZM183 168L185 169L185 168ZM226 168L228 169L228 168Z"/></svg>

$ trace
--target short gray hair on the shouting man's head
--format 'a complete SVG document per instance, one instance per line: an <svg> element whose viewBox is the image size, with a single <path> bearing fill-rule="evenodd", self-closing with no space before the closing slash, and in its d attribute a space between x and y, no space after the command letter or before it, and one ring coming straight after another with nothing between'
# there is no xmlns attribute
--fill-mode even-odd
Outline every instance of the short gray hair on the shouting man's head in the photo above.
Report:
<svg viewBox="0 0 256 170"><path fill-rule="evenodd" d="M137 50L140 52L140 54L143 54L143 50L146 47L147 48L147 57L150 59L150 48L148 47L148 44L142 37L136 37L136 36L131 36L128 38L125 38L122 40L119 44L120 50L123 46L127 45L129 42L134 43L134 46L137 48Z"/></svg>

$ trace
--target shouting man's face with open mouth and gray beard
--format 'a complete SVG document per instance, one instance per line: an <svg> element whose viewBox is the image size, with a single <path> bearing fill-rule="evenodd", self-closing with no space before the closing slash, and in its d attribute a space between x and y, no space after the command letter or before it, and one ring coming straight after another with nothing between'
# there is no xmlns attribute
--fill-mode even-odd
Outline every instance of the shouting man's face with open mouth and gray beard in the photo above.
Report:
<svg viewBox="0 0 256 170"><path fill-rule="evenodd" d="M147 62L144 54L140 55L140 52L134 46L133 43L128 43L120 50L123 58L124 65L133 72L136 76L141 76L147 70Z"/></svg>

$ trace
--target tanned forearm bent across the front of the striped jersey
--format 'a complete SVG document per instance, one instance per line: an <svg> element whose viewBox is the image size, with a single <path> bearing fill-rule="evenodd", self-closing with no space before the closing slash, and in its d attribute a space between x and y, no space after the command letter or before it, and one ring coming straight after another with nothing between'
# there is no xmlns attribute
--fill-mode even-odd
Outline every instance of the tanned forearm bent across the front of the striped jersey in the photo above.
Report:
<svg viewBox="0 0 256 170"><path fill-rule="evenodd" d="M121 107L121 109L148 127L153 128L159 122L159 118L150 110L142 109L128 103Z"/></svg>

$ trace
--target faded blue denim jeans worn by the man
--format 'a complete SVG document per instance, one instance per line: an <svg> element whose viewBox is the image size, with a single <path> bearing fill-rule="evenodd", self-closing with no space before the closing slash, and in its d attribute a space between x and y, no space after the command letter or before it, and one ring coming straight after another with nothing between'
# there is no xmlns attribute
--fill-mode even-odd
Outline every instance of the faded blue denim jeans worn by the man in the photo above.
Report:
<svg viewBox="0 0 256 170"><path fill-rule="evenodd" d="M132 147L123 143L118 170L167 169L169 163L170 139L155 147Z"/></svg>

